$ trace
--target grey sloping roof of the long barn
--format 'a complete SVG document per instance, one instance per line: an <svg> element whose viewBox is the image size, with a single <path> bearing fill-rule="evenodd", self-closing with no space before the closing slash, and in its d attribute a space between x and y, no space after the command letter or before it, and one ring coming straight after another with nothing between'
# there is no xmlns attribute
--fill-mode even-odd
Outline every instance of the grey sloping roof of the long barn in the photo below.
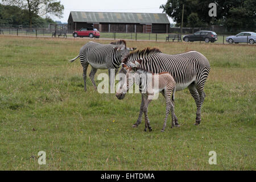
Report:
<svg viewBox="0 0 256 182"><path fill-rule="evenodd" d="M71 11L73 22L90 23L160 23L170 24L163 13L108 13Z"/></svg>

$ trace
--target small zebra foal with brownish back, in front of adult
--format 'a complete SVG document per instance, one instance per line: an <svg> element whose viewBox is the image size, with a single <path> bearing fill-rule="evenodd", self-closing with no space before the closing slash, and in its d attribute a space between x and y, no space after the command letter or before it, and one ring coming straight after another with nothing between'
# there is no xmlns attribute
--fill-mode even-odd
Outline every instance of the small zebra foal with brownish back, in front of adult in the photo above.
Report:
<svg viewBox="0 0 256 182"><path fill-rule="evenodd" d="M171 110L172 114L172 127L175 126L175 117L174 117L174 101L171 99L171 95L175 92L175 81L174 78L168 72L161 72L161 73L151 73L148 71L143 70L142 68L137 68L136 66L137 61L135 64L130 64L130 67L123 64L122 68L126 70L126 80L127 84L123 84L121 88L117 90L116 96L117 98L121 98L121 95L125 95L129 90L130 86L135 84L139 85L142 91L142 105L141 110L139 111L139 119L142 119L142 114L144 113L145 117L145 128L144 131L152 131L150 126L150 121L148 119L148 105L155 97L155 94L160 92L166 98L166 117L164 118L164 125L161 131L164 131L166 128L166 122L168 115ZM130 74L132 73L132 74ZM134 125L137 127L137 125Z"/></svg>

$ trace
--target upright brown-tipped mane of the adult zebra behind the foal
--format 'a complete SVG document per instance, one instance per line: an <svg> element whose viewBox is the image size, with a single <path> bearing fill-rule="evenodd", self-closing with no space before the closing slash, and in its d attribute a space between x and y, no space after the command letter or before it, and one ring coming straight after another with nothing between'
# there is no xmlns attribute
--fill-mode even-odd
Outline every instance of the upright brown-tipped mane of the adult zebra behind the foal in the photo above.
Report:
<svg viewBox="0 0 256 182"><path fill-rule="evenodd" d="M151 56L155 53L162 53L159 48L145 48L143 50L138 50L138 51L134 51L131 52L128 56L125 57L125 59L123 59L122 63L126 64L129 61L135 61L135 57L136 59L141 59L147 56Z"/></svg>

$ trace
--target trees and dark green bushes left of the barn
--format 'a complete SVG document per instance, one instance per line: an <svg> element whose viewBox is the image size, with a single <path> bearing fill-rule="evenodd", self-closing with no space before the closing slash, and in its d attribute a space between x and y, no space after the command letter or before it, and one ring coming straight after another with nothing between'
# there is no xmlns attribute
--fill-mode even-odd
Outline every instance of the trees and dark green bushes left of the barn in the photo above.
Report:
<svg viewBox="0 0 256 182"><path fill-rule="evenodd" d="M64 6L55 0L2 0L0 3L0 26L47 27L55 23L49 14L59 18ZM46 18L42 18L42 16Z"/></svg>

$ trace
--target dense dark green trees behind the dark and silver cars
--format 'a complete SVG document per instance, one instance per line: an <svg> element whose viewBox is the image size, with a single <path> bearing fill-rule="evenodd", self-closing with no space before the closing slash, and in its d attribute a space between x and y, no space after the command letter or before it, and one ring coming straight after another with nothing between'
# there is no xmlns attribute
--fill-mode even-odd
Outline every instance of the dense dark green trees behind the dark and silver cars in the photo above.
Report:
<svg viewBox="0 0 256 182"><path fill-rule="evenodd" d="M209 16L209 4L216 3L217 16ZM208 27L222 25L230 31L256 29L256 3L255 0L168 0L161 5L176 27L181 24L182 9L184 5L183 27Z"/></svg>

